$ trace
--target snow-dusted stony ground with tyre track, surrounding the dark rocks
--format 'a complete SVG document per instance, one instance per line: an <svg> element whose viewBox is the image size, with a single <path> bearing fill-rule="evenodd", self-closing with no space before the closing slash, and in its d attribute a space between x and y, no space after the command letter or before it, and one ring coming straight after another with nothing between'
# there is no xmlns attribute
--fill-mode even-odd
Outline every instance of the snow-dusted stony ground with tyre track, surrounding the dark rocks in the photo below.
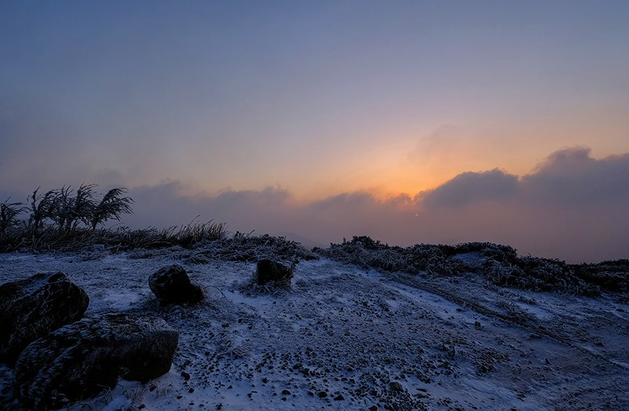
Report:
<svg viewBox="0 0 629 411"><path fill-rule="evenodd" d="M324 258L301 261L283 290L253 285L252 263L187 257L0 254L0 282L63 271L89 295L85 317L157 315L180 331L169 373L122 381L71 409L629 409L629 306L614 296ZM147 279L174 263L205 287L203 305L159 306ZM10 373L0 368L0 408L19 409Z"/></svg>

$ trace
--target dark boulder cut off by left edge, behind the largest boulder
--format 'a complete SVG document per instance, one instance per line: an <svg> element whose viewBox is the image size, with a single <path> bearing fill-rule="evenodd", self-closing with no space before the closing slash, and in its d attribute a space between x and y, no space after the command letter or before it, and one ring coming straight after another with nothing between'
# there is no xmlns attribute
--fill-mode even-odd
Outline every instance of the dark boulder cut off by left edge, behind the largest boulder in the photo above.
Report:
<svg viewBox="0 0 629 411"><path fill-rule="evenodd" d="M87 305L85 291L61 272L0 285L0 362L13 366L27 345L78 321Z"/></svg>

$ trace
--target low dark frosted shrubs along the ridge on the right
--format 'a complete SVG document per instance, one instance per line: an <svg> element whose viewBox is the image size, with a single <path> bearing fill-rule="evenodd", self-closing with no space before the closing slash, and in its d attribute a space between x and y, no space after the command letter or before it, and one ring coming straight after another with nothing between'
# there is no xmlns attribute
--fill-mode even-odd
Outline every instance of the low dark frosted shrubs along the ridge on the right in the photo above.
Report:
<svg viewBox="0 0 629 411"><path fill-rule="evenodd" d="M557 259L519 257L508 245L462 243L397 247L366 236L354 236L350 241L332 244L318 252L363 268L410 274L426 272L435 276L471 272L498 286L533 291L562 291L584 296L598 296L601 291L625 295L629 292L629 260L626 259L577 265Z"/></svg>

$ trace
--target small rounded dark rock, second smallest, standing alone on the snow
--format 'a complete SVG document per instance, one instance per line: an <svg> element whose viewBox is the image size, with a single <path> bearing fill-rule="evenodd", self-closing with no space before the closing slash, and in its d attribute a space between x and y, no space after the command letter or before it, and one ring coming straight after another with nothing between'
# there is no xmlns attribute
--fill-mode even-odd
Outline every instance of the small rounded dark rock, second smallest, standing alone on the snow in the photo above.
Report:
<svg viewBox="0 0 629 411"><path fill-rule="evenodd" d="M204 298L201 286L190 282L185 269L178 264L152 273L149 287L159 302L164 304L194 304Z"/></svg>

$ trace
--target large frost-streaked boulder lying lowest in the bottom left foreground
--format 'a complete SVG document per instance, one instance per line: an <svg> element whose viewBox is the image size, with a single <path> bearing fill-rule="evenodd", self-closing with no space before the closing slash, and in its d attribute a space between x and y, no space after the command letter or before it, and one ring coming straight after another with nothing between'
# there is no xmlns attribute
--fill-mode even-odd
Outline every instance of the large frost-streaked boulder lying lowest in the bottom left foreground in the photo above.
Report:
<svg viewBox="0 0 629 411"><path fill-rule="evenodd" d="M106 315L64 326L31 343L15 363L17 395L35 410L60 408L171 368L179 335L157 317Z"/></svg>

